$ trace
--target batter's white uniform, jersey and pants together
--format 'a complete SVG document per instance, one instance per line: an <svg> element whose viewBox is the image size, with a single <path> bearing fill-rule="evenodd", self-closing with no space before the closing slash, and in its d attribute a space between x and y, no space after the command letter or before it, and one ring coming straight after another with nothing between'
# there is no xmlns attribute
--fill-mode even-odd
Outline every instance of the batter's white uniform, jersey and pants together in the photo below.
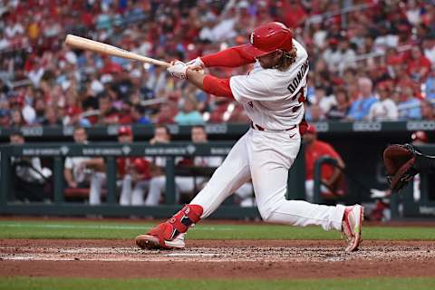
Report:
<svg viewBox="0 0 435 290"><path fill-rule="evenodd" d="M252 178L256 204L264 220L341 230L343 206L327 207L285 199L288 169L301 144L298 125L304 117L309 69L304 47L293 42L297 57L285 72L263 69L256 62L247 75L230 78L232 94L254 125L237 141L206 187L190 202L202 206L201 218L207 218L225 198Z"/></svg>

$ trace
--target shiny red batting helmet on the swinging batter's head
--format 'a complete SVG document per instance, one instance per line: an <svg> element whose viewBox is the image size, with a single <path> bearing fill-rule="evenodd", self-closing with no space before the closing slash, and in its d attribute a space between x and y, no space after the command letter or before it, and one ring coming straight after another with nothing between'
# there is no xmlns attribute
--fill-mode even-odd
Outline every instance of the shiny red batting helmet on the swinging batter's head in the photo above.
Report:
<svg viewBox="0 0 435 290"><path fill-rule="evenodd" d="M279 22L263 24L254 29L250 43L242 45L242 49L252 57L273 53L278 49L289 52L293 49L293 34L285 24Z"/></svg>

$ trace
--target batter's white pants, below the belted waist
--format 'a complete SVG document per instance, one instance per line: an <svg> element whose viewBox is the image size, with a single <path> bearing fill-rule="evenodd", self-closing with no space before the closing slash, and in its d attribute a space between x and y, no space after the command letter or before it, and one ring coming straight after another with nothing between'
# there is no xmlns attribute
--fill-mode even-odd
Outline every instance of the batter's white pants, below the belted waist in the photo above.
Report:
<svg viewBox="0 0 435 290"><path fill-rule="evenodd" d="M265 221L341 230L343 206L285 199L288 169L295 161L300 143L298 128L280 132L247 131L190 204L202 206L201 218L207 218L225 198L252 178L256 204Z"/></svg>

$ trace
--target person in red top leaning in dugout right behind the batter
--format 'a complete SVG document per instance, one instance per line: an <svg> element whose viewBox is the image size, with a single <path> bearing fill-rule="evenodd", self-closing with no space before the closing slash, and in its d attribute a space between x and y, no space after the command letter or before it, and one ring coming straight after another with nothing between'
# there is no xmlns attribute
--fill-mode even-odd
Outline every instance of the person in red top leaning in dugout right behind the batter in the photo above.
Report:
<svg viewBox="0 0 435 290"><path fill-rule="evenodd" d="M317 140L317 133L313 125L308 126L304 134L305 150L305 192L306 199L312 201L314 198L314 166L321 157L328 156L337 160L338 166L344 169L344 162L333 147ZM342 171L331 164L324 164L321 168L322 186L321 192L324 197L331 195L343 195L343 189L336 189L343 176ZM333 191L333 192L332 192Z"/></svg>

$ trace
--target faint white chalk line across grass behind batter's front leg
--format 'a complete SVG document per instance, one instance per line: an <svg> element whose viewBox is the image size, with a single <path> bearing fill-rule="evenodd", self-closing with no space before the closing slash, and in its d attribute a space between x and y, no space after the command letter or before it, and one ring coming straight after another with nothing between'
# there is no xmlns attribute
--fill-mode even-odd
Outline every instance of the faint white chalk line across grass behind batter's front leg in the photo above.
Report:
<svg viewBox="0 0 435 290"><path fill-rule="evenodd" d="M73 229L137 229L137 230L146 230L150 229L151 226L108 226L108 225L54 225L54 224L0 224L1 227L32 227L32 228L73 228ZM213 230L213 231L231 231L236 230L235 227L194 227L195 230Z"/></svg>

